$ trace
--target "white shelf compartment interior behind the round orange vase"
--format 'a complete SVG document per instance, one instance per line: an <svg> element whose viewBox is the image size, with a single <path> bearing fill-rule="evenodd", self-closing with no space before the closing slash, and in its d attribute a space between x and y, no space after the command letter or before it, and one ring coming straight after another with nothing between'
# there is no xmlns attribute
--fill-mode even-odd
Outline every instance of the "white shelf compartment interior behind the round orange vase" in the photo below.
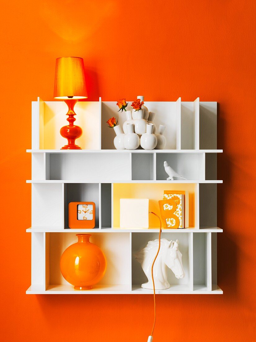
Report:
<svg viewBox="0 0 256 342"><path fill-rule="evenodd" d="M74 242L77 242L75 234L73 232L69 234L45 233L47 237L45 272L46 279L48 280L46 281L46 292L51 290L56 293L59 289L63 291L63 285L69 291L73 291L72 286L63 278L59 263L65 249ZM93 290L98 292L101 288L104 291L108 289L109 291L115 291L118 287L119 290L124 290L124 288L130 289L130 233L91 233L90 242L102 249L107 260L106 273ZM87 291L79 291L79 293L84 292Z"/></svg>

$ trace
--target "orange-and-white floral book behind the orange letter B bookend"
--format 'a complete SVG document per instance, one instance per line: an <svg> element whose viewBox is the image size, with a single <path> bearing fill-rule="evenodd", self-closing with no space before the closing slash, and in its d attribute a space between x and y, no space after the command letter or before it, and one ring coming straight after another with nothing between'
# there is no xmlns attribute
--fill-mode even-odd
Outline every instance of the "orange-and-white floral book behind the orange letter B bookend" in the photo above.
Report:
<svg viewBox="0 0 256 342"><path fill-rule="evenodd" d="M174 215L176 215L180 221L179 229L188 228L189 219L189 200L188 191L170 191L165 190L163 192L163 199L172 199L177 205ZM163 205L164 210L170 210L169 204ZM167 227L173 227L175 225L175 220L173 218L166 219Z"/></svg>

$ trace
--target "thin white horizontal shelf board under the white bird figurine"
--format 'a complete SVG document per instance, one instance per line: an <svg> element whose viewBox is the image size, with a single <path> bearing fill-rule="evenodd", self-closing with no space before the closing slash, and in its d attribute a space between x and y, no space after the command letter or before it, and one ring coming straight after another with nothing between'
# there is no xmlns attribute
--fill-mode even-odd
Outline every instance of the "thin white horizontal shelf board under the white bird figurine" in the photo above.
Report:
<svg viewBox="0 0 256 342"><path fill-rule="evenodd" d="M100 180L95 180L95 181L86 181L86 180L27 180L26 183L117 183L117 184L125 184L125 183L138 183L138 184L142 184L142 183L152 183L152 184L157 184L157 183L166 183L166 184L192 184L192 183L196 183L196 184L219 184L219 183L223 183L223 180L186 180L186 181L100 181Z"/></svg>

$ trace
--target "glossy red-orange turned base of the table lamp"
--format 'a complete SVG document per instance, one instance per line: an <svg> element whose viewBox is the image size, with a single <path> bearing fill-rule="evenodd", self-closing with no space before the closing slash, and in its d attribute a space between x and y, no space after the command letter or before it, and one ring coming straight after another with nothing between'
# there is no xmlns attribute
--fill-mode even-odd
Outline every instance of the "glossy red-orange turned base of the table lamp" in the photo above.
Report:
<svg viewBox="0 0 256 342"><path fill-rule="evenodd" d="M67 126L64 126L60 129L60 134L63 136L63 138L68 139L68 144L61 147L61 149L81 149L78 145L75 144L75 140L79 138L83 131L82 128L79 126L74 125L74 105L76 104L78 100L70 99L70 100L64 100L64 102L68 105L69 110L68 110L68 118L67 121L69 124Z"/></svg>

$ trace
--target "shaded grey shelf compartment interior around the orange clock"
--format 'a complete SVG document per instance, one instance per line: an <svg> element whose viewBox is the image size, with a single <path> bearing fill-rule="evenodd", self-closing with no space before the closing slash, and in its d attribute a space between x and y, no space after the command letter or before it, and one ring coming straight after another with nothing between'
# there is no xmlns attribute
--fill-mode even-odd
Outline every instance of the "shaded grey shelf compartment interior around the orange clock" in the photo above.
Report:
<svg viewBox="0 0 256 342"><path fill-rule="evenodd" d="M64 184L65 192L65 228L68 226L68 205L70 202L95 203L95 227L99 227L99 184L98 183L71 183Z"/></svg>

